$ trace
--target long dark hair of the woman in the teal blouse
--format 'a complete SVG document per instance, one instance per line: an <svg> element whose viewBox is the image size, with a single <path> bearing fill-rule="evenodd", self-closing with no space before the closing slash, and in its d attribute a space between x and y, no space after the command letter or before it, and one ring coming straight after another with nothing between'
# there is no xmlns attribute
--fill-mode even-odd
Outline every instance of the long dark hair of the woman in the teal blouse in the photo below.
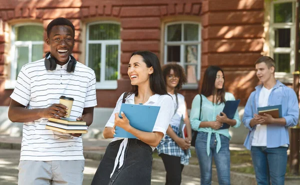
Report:
<svg viewBox="0 0 300 185"><path fill-rule="evenodd" d="M214 100L214 96L216 96L216 104L219 101L220 103L225 102L225 89L224 85L221 89L215 89L215 79L216 79L216 74L218 71L221 71L223 76L224 72L221 68L217 66L209 66L204 73L203 77L203 83L201 87L201 94L203 94L205 97L208 97L212 95L212 103ZM224 78L225 81L225 78Z"/></svg>

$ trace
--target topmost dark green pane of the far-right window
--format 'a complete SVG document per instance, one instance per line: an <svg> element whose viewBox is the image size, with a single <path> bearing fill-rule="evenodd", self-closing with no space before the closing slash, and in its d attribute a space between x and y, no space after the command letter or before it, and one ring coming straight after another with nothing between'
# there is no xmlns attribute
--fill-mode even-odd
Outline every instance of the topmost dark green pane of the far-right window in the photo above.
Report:
<svg viewBox="0 0 300 185"><path fill-rule="evenodd" d="M292 3L274 4L274 23L291 23Z"/></svg>

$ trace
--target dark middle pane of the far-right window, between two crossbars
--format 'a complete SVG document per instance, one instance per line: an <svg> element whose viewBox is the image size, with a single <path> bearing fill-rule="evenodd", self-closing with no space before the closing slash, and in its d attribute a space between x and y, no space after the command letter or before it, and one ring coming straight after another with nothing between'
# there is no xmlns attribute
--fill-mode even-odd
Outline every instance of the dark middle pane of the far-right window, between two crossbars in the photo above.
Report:
<svg viewBox="0 0 300 185"><path fill-rule="evenodd" d="M275 29L275 47L289 48L290 47L290 29Z"/></svg>

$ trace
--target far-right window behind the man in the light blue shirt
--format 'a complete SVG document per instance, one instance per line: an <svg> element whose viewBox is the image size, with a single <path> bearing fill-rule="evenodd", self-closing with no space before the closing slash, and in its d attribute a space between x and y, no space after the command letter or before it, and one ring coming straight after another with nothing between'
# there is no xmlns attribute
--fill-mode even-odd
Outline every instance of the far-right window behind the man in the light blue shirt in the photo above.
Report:
<svg viewBox="0 0 300 185"><path fill-rule="evenodd" d="M292 73L295 63L296 1L273 1L270 15L270 56L276 73ZM299 66L300 67L300 66Z"/></svg>

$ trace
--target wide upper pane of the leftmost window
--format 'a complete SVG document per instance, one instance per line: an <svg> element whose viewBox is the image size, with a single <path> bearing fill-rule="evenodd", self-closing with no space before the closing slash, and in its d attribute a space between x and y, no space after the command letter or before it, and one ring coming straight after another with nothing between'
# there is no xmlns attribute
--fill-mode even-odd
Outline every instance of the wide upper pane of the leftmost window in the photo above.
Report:
<svg viewBox="0 0 300 185"><path fill-rule="evenodd" d="M15 27L16 41L43 41L43 27L36 25Z"/></svg>

